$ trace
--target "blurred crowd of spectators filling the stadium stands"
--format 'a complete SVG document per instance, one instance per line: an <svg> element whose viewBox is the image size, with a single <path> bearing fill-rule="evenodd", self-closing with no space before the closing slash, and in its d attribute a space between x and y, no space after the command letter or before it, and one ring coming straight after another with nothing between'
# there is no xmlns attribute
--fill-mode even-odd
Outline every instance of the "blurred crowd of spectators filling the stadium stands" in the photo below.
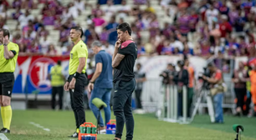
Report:
<svg viewBox="0 0 256 140"><path fill-rule="evenodd" d="M21 55L68 55L69 28L84 28L113 52L119 23L131 24L139 55L255 56L254 0L1 0L0 28ZM92 51L90 51L92 53ZM92 55L90 55L92 57Z"/></svg>

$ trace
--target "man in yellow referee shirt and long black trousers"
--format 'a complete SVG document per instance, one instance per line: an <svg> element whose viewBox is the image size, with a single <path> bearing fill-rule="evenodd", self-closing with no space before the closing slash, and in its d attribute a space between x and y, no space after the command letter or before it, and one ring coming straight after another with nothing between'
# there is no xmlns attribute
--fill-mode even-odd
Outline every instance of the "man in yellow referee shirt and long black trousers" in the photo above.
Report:
<svg viewBox="0 0 256 140"><path fill-rule="evenodd" d="M72 42L74 42L74 47L69 56L69 78L64 84L64 90L70 93L71 107L76 123L76 132L69 136L70 138L78 138L79 126L85 122L84 87L87 78L85 77L85 70L88 50L81 40L83 34L83 29L79 27L71 28L69 34Z"/></svg>

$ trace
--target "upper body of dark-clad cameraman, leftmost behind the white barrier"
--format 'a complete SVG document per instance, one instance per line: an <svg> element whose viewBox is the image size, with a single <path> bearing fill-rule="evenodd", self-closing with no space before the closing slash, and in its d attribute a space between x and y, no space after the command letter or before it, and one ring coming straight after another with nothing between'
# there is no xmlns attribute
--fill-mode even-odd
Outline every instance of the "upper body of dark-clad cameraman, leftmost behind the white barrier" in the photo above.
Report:
<svg viewBox="0 0 256 140"><path fill-rule="evenodd" d="M163 77L162 84L174 84L172 79L176 74L175 65L173 63L168 63L166 70L160 74L160 76Z"/></svg>

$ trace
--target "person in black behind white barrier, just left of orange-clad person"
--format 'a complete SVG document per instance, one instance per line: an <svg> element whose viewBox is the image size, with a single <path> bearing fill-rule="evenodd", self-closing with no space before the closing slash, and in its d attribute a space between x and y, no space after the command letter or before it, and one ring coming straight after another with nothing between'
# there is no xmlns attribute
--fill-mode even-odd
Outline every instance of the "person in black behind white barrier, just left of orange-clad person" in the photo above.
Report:
<svg viewBox="0 0 256 140"><path fill-rule="evenodd" d="M187 69L184 68L184 61L180 60L177 62L180 71L177 72L176 77L174 77L174 81L177 84L177 92L178 92L178 116L182 117L182 97L183 97L183 86L188 85L188 72Z"/></svg>

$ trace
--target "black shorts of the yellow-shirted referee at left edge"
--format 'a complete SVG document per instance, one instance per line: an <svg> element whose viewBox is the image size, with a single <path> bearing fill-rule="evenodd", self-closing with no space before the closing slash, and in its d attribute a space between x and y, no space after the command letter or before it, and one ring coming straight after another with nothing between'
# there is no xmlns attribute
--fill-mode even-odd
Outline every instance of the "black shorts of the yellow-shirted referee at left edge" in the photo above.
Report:
<svg viewBox="0 0 256 140"><path fill-rule="evenodd" d="M12 97L13 85L13 72L0 72L0 95Z"/></svg>

